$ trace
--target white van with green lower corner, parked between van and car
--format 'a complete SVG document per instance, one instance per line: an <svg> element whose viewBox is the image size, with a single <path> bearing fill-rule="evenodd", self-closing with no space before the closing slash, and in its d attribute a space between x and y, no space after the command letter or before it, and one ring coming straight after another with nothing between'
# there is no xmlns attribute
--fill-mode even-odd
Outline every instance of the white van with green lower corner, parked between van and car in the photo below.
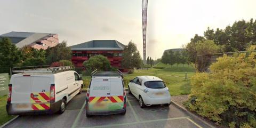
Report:
<svg viewBox="0 0 256 128"><path fill-rule="evenodd" d="M91 115L125 114L126 92L121 71L93 73L87 89L86 117Z"/></svg>

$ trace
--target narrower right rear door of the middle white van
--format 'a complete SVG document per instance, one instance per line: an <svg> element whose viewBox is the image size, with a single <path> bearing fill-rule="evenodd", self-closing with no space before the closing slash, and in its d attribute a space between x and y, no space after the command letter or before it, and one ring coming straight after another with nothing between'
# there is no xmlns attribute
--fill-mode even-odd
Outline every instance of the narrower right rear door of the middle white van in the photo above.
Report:
<svg viewBox="0 0 256 128"><path fill-rule="evenodd" d="M110 110L123 109L123 82L121 78L110 78Z"/></svg>

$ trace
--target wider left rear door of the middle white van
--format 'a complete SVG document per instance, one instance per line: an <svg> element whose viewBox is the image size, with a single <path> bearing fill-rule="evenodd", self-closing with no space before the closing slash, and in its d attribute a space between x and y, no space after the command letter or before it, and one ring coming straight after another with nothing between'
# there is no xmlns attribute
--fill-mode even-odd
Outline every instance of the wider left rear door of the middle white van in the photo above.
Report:
<svg viewBox="0 0 256 128"><path fill-rule="evenodd" d="M89 110L108 111L110 103L110 78L96 77L91 81Z"/></svg>

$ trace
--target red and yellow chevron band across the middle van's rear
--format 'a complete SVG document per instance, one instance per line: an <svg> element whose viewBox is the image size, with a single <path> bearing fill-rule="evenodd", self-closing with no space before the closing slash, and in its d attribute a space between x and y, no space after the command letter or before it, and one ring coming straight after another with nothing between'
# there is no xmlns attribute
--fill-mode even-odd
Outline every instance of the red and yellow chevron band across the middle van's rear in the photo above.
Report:
<svg viewBox="0 0 256 128"><path fill-rule="evenodd" d="M119 96L111 96L111 97L89 97L89 103L96 103L96 102L101 102L103 100L108 100L106 102L124 102L124 97L123 95Z"/></svg>

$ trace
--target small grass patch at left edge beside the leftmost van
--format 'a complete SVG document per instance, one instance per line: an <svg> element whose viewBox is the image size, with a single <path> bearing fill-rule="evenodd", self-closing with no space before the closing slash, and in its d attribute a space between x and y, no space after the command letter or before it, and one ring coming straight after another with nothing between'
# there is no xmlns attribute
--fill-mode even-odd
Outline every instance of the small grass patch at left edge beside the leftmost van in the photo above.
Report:
<svg viewBox="0 0 256 128"><path fill-rule="evenodd" d="M15 116L8 116L6 112L6 99L7 96L0 97L0 126L3 125L5 122L9 121Z"/></svg>

